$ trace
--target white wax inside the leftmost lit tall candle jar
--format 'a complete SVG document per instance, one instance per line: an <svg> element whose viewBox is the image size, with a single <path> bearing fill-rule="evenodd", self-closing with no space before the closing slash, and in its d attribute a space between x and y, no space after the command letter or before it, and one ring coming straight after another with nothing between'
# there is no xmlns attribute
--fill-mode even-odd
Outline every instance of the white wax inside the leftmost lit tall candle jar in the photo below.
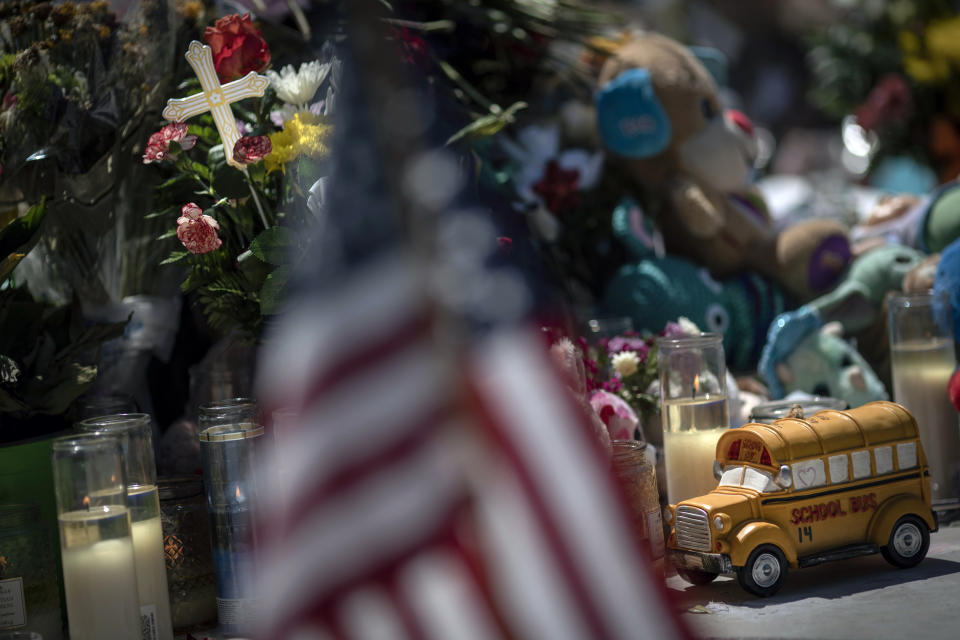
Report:
<svg viewBox="0 0 960 640"><path fill-rule="evenodd" d="M122 507L59 516L71 640L140 638L128 518Z"/></svg>

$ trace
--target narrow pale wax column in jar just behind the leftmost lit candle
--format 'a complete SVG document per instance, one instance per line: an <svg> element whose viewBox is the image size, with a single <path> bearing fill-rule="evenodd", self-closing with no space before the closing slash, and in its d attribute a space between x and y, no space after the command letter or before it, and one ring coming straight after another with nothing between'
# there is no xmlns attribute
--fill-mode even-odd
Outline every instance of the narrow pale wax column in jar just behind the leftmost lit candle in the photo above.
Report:
<svg viewBox="0 0 960 640"><path fill-rule="evenodd" d="M163 557L163 529L156 486L131 488L128 494L133 523L133 550L137 568L144 640L173 640L167 567Z"/></svg>

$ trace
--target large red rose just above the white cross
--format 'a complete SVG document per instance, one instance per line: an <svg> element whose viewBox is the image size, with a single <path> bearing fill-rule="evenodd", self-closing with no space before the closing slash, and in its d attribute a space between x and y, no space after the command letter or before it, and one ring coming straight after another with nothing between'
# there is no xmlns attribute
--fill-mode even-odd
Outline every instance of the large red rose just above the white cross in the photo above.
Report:
<svg viewBox="0 0 960 640"><path fill-rule="evenodd" d="M270 48L253 26L250 14L231 14L207 27L203 39L213 50L213 66L220 82L242 78L251 71L263 71L270 64Z"/></svg>

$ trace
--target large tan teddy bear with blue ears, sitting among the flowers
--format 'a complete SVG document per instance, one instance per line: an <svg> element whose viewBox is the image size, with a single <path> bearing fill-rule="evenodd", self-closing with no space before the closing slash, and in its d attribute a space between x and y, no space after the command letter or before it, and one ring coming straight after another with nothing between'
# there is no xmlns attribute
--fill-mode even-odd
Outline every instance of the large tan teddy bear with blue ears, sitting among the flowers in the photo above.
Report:
<svg viewBox="0 0 960 640"><path fill-rule="evenodd" d="M835 284L850 260L847 229L809 220L777 232L749 186L756 142L742 113L724 111L717 86L685 46L644 34L600 70L600 137L636 184L670 253L715 276L757 271L808 300Z"/></svg>

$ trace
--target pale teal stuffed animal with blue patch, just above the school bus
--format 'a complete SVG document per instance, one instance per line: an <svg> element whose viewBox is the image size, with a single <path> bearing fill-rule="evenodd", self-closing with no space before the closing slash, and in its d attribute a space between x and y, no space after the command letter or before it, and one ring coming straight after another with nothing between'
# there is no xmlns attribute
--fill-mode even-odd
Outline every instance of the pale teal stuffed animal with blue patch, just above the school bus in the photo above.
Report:
<svg viewBox="0 0 960 640"><path fill-rule="evenodd" d="M870 327L887 292L899 290L923 258L904 246L871 249L853 262L836 289L778 316L770 325L758 367L771 396L781 398L795 389L820 395L829 391L850 406L862 404L863 398L885 398L876 373L841 336ZM828 324L831 329L824 333Z"/></svg>

